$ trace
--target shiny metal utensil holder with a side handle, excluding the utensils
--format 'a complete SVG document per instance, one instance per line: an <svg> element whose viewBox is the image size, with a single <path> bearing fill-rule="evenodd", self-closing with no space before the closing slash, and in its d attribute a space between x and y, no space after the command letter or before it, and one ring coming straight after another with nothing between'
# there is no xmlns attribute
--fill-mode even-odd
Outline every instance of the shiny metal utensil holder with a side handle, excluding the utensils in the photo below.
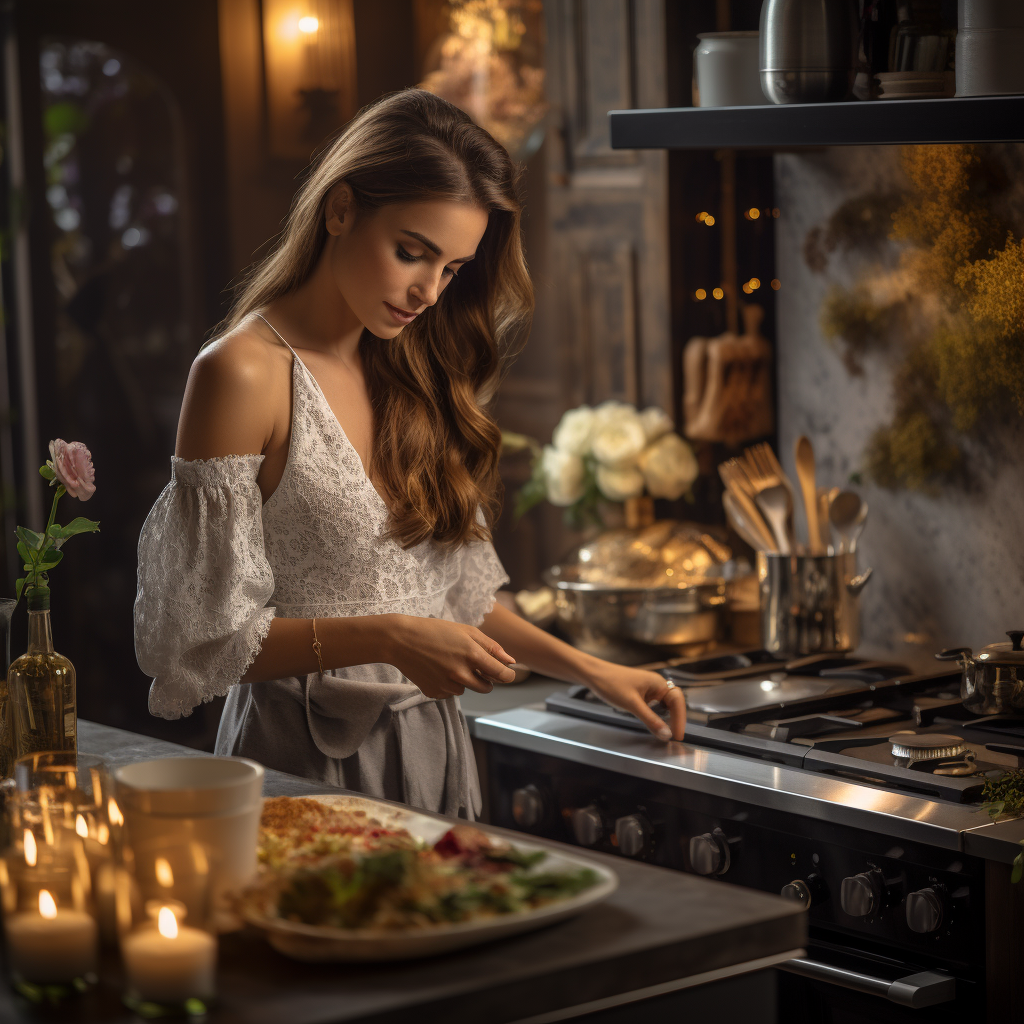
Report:
<svg viewBox="0 0 1024 1024"><path fill-rule="evenodd" d="M853 554L758 552L761 646L772 653L854 650L860 643L860 592Z"/></svg>

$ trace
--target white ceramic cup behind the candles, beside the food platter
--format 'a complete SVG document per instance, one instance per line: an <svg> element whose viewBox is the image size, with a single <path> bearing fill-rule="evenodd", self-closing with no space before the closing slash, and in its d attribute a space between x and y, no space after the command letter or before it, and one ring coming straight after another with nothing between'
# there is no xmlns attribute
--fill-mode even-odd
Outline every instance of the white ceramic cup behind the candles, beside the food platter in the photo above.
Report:
<svg viewBox="0 0 1024 1024"><path fill-rule="evenodd" d="M262 765L246 758L158 758L115 769L114 780L129 844L196 841L212 851L217 906L255 876Z"/></svg>

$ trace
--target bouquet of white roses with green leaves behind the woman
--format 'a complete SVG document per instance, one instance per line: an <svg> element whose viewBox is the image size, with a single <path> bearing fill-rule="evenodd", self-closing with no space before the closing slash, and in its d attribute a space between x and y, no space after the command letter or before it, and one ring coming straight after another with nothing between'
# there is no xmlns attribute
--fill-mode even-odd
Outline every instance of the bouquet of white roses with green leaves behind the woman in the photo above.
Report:
<svg viewBox="0 0 1024 1024"><path fill-rule="evenodd" d="M574 526L600 522L601 500L625 502L648 495L675 500L697 477L693 450L656 408L638 412L624 401L566 412L543 447L530 438L505 434L510 450L534 453L532 474L516 500L516 516L549 501L566 509Z"/></svg>

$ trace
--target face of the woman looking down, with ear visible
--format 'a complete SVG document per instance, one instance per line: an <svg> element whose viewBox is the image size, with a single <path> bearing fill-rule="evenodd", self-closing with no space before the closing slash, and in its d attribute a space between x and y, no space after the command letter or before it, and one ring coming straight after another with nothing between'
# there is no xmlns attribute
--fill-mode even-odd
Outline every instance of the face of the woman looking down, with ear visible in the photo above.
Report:
<svg viewBox="0 0 1024 1024"><path fill-rule="evenodd" d="M328 206L327 227L335 237L331 273L362 326L378 338L393 338L473 258L487 211L431 201L360 212L345 202L346 191L343 185Z"/></svg>

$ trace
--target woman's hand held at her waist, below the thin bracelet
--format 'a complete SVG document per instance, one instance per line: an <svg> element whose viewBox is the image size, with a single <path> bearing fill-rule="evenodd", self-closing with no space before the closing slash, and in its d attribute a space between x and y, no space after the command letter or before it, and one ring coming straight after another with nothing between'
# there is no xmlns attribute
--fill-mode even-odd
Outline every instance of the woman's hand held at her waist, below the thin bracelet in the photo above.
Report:
<svg viewBox="0 0 1024 1024"><path fill-rule="evenodd" d="M434 700L465 690L489 693L489 680L511 683L515 662L474 626L445 618L394 615L390 663Z"/></svg>

